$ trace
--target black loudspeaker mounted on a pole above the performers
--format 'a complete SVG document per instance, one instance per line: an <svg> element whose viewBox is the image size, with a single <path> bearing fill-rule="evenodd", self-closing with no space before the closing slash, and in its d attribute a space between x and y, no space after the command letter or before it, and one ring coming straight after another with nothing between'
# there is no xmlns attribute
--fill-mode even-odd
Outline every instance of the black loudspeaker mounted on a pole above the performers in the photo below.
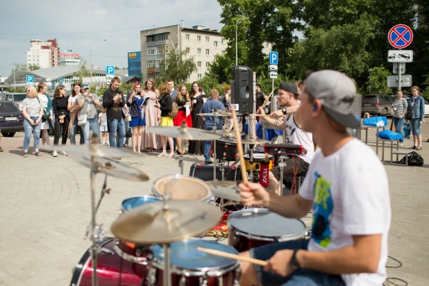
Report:
<svg viewBox="0 0 429 286"><path fill-rule="evenodd" d="M238 105L238 112L253 113L253 71L250 67L235 65L231 82L231 104Z"/></svg>

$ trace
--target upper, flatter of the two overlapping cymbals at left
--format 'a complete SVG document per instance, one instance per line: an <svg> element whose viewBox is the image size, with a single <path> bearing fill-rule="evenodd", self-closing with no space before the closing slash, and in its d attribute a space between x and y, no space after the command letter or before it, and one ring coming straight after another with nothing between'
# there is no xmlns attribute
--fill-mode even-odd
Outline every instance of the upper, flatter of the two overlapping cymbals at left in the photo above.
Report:
<svg viewBox="0 0 429 286"><path fill-rule="evenodd" d="M74 156L97 156L97 157L120 157L120 158L126 158L126 157L134 157L138 158L139 155L123 151L121 149L117 148L110 148L105 146L96 146L94 150L90 149L90 145L51 145L49 146L49 149L55 150L55 151L65 151L67 152L67 155L74 155Z"/></svg>

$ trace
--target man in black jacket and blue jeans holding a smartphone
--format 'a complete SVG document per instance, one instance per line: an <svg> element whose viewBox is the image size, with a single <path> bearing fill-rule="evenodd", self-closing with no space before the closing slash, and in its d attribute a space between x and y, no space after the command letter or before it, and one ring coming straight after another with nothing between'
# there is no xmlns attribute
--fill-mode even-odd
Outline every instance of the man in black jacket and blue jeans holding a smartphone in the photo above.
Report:
<svg viewBox="0 0 429 286"><path fill-rule="evenodd" d="M103 107L107 108L108 125L110 130L109 143L110 148L116 148L116 135L119 131L118 148L124 149L125 124L124 112L122 108L125 106L123 100L124 93L119 90L121 78L115 76L110 82L110 87L103 94Z"/></svg>

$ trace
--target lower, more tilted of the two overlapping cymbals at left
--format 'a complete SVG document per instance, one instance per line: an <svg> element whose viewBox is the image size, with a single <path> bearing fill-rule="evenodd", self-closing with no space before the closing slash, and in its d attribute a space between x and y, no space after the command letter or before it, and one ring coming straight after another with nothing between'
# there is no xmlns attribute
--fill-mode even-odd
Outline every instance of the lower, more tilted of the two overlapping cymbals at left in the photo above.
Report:
<svg viewBox="0 0 429 286"><path fill-rule="evenodd" d="M74 153L68 153L67 155L79 164L90 169L92 168L90 155L74 155ZM121 178L124 180L134 180L137 182L145 182L146 180L149 180L149 176L147 176L144 171L126 163L99 156L96 156L95 160L99 166L98 171L108 176Z"/></svg>

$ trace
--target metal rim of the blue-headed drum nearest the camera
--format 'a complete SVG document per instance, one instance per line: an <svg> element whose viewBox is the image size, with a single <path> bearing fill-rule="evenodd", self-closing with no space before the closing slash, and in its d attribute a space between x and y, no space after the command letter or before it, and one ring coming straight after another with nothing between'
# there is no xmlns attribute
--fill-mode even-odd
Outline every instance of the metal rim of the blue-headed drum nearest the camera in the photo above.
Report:
<svg viewBox="0 0 429 286"><path fill-rule="evenodd" d="M198 237L190 237L188 239L183 239L180 240L178 242L185 242L185 241L204 241L204 242L211 242L210 240L204 240ZM174 243L174 242L173 242ZM177 242L176 242L177 243ZM159 244L155 244L153 246L156 246ZM235 252L234 254L238 254L237 249L235 249L233 246L230 246L229 244L221 244L224 246L229 246L231 249L233 249L233 251ZM153 247L151 246L151 248ZM151 264L153 264L153 266L157 269L160 270L164 270L164 260L160 260L158 258L156 258L155 253L153 253L153 260L151 262ZM208 276L220 276L217 275L217 273L221 273L221 275L226 274L227 272L236 269L237 267L239 267L239 262L238 260L234 260L234 262L227 264L225 267L178 267L178 265L175 265L173 263L171 263L171 271L174 271L174 274L183 274L185 272L185 276L187 277L192 277L192 276L201 276L201 275L208 275ZM192 274L187 274L187 272L190 272Z"/></svg>

